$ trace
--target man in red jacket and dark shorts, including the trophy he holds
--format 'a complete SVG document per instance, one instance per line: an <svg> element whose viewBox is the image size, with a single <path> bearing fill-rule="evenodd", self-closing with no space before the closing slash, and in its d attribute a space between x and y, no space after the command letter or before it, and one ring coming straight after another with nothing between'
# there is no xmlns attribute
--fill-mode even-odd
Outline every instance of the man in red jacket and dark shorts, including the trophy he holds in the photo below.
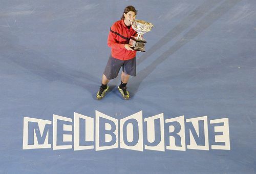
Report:
<svg viewBox="0 0 256 174"><path fill-rule="evenodd" d="M118 76L122 67L121 83L118 90L124 99L130 95L126 89L130 75L136 76L136 51L145 51L145 32L151 30L153 25L143 20L135 20L137 11L133 6L125 7L121 20L116 21L110 28L108 46L111 55L106 64L97 99L102 99L109 90L108 82Z"/></svg>

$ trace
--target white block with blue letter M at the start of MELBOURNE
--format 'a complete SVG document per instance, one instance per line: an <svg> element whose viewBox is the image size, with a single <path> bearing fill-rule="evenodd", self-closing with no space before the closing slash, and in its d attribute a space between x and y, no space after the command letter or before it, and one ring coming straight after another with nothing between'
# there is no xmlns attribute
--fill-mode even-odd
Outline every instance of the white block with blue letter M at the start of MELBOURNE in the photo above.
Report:
<svg viewBox="0 0 256 174"><path fill-rule="evenodd" d="M52 121L24 117L23 149L51 148L49 128Z"/></svg>

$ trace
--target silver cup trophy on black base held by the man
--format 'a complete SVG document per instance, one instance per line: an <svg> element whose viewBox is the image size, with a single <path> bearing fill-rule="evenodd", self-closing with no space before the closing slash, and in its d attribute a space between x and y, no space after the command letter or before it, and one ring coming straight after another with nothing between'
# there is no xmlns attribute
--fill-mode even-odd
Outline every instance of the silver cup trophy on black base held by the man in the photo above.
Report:
<svg viewBox="0 0 256 174"><path fill-rule="evenodd" d="M146 40L143 38L143 34L151 31L154 25L144 20L135 19L132 21L133 29L138 33L137 37L132 36L129 41L129 45L135 51L145 52Z"/></svg>

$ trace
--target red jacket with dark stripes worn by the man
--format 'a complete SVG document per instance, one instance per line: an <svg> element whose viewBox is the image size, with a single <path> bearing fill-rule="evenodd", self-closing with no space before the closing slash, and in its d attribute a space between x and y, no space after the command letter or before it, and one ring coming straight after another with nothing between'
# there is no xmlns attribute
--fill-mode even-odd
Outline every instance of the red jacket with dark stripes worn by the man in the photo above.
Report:
<svg viewBox="0 0 256 174"><path fill-rule="evenodd" d="M110 28L108 46L111 47L112 57L119 60L129 60L136 56L136 51L129 51L124 48L129 44L131 36L136 35L136 31L131 27L128 29L123 20L116 21Z"/></svg>

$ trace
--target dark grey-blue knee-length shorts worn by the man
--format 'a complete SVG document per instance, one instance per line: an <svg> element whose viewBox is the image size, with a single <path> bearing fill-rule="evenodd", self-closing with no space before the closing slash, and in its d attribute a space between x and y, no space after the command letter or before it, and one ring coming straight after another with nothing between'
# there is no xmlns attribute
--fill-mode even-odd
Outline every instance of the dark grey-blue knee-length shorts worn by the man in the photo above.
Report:
<svg viewBox="0 0 256 174"><path fill-rule="evenodd" d="M109 80L114 79L118 76L121 67L125 74L136 76L136 57L129 60L119 60L110 56L103 74Z"/></svg>

